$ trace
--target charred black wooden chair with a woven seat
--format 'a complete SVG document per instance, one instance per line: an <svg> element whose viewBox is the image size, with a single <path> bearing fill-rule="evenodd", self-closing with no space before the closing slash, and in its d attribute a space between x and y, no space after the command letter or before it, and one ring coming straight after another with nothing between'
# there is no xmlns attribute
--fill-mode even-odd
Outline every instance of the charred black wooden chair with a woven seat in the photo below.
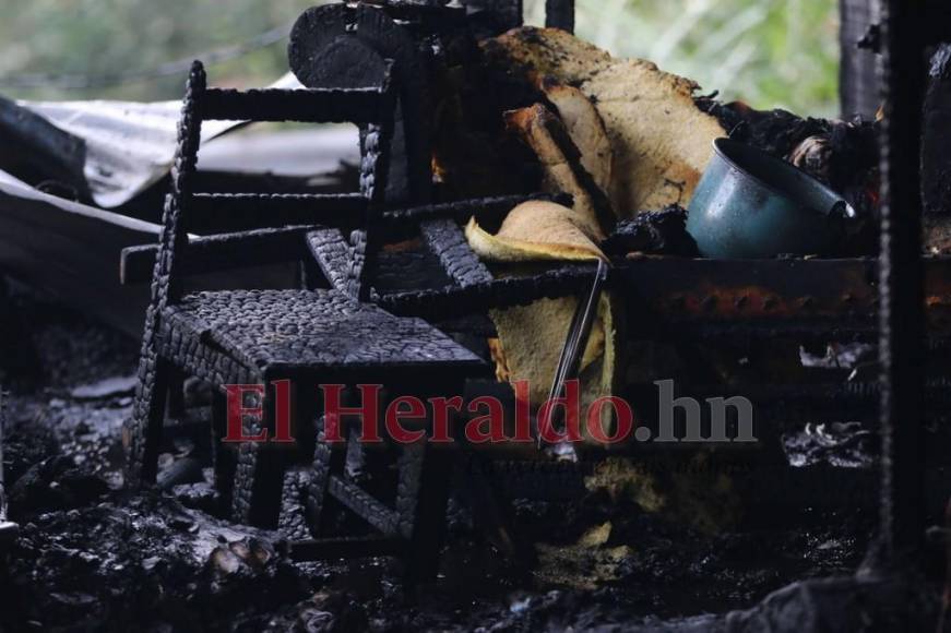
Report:
<svg viewBox="0 0 951 633"><path fill-rule="evenodd" d="M224 385L272 385L274 381L292 380L304 385L301 391L316 393L319 384L359 382L385 385L392 394L426 398L462 393L466 377L483 371L482 360L426 322L396 318L366 302L370 297L367 275L376 256L376 231L382 217L389 159L385 147L393 108L389 82L379 89L214 89L205 87L204 70L195 62L188 81L173 189L166 200L153 273L140 386L126 432L128 485L148 485L156 477L166 396L175 385L177 372L198 377L216 389L213 426L221 437L226 415ZM345 196L195 193L193 176L203 119L348 121L365 126L360 193ZM230 218L226 213L229 207L235 214ZM347 210L349 217L342 217L341 212ZM280 228L191 239L187 232L205 222L202 214L222 218L218 223L222 226L235 226L235 217L245 222L254 213L258 223L266 223L271 214L270 219ZM342 227L357 227L350 240L333 239L343 235L326 229L326 224L333 220ZM195 294L182 290L182 276L194 270L221 271L264 261L294 261L311 253L323 264L336 261L326 267L333 277L331 289ZM340 274L342 270L345 274ZM420 390L425 393L419 393ZM245 417L246 434L257 434L263 429L273 432L276 414L271 406L272 396L273 391L265 392L260 414ZM307 431L307 423L301 428ZM287 451L246 442L239 445L237 458L229 463L227 447L219 449L223 454L217 459L216 477L224 495L231 498L234 518L274 525ZM348 498L359 501L352 509L381 528L384 536L405 542L424 535L430 541L426 549L435 548L438 552L433 535L443 522L451 462L439 452L427 452L418 442L402 452L397 510L371 503L368 494L342 480L330 481L331 492L345 489ZM231 480L234 485L228 490ZM420 516L439 525L423 526ZM432 572L430 565L421 573Z"/></svg>

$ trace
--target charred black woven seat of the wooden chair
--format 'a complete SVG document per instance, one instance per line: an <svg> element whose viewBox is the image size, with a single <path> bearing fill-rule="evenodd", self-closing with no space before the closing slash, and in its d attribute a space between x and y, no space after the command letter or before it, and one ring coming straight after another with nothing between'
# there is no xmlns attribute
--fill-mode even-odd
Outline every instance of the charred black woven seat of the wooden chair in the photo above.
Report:
<svg viewBox="0 0 951 633"><path fill-rule="evenodd" d="M473 374L484 368L425 321L394 316L336 290L199 292L168 306L162 324L164 338L185 348L197 338L261 375L375 369Z"/></svg>

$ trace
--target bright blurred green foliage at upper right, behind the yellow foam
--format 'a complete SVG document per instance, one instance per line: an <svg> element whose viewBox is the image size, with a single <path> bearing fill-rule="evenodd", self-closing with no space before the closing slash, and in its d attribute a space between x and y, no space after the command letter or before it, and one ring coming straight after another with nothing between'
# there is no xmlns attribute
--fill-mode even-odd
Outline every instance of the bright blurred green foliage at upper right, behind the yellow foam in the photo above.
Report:
<svg viewBox="0 0 951 633"><path fill-rule="evenodd" d="M839 111L835 0L576 0L578 35L757 108ZM544 22L544 0L526 0Z"/></svg>

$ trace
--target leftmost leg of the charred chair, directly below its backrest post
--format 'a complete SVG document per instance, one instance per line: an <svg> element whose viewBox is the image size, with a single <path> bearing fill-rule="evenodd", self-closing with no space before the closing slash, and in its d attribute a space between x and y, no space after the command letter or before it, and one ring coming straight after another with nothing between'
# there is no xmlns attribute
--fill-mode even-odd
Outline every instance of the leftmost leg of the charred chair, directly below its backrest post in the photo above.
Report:
<svg viewBox="0 0 951 633"><path fill-rule="evenodd" d="M168 361L154 347L143 350L132 418L122 438L127 450L126 485L131 488L155 483L170 371Z"/></svg>

